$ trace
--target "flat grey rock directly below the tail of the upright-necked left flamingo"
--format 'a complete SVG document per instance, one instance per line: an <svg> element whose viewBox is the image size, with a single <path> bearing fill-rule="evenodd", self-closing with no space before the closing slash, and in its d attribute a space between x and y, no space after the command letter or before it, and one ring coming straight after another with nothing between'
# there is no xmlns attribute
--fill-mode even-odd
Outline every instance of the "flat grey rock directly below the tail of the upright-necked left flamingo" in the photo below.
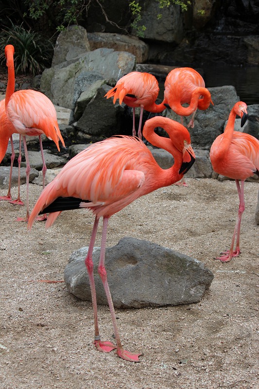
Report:
<svg viewBox="0 0 259 389"><path fill-rule="evenodd" d="M54 167L64 166L67 163L67 159L54 155L50 150L43 150L45 163L48 169L53 169ZM29 161L31 167L36 170L42 169L42 158L40 151L28 151ZM21 162L21 166L26 166L26 162Z"/></svg>

